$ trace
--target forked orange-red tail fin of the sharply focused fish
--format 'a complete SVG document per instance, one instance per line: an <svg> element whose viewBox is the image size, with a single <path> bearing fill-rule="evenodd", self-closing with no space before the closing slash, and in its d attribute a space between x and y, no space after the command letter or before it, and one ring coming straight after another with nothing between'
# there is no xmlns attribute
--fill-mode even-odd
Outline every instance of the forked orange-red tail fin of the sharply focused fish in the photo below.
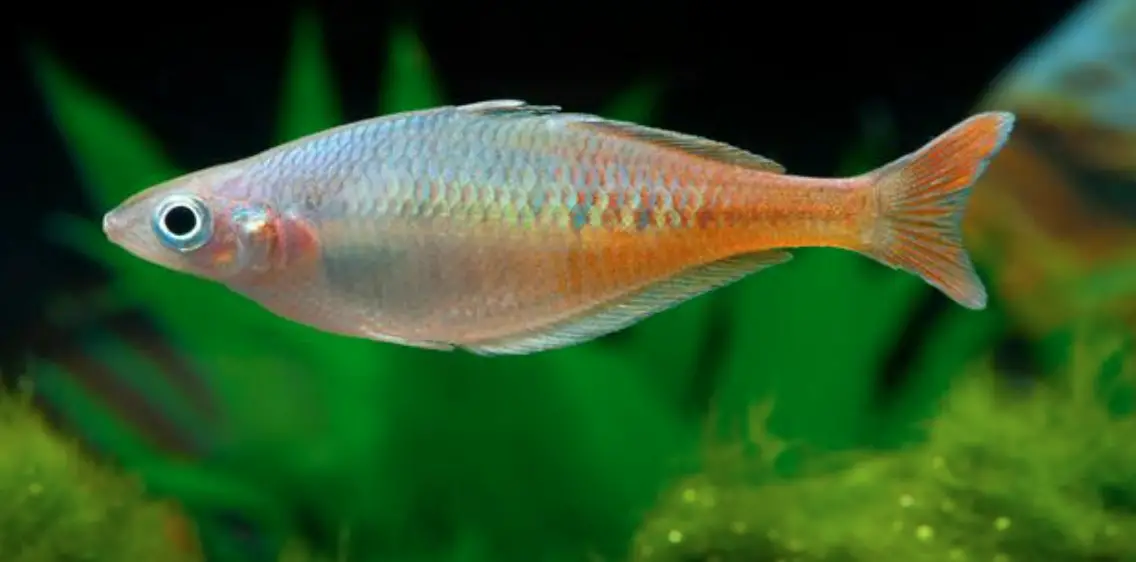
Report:
<svg viewBox="0 0 1136 562"><path fill-rule="evenodd" d="M867 253L921 277L959 304L986 308L986 287L962 245L970 190L1013 129L1009 112L975 115L868 175L879 221Z"/></svg>

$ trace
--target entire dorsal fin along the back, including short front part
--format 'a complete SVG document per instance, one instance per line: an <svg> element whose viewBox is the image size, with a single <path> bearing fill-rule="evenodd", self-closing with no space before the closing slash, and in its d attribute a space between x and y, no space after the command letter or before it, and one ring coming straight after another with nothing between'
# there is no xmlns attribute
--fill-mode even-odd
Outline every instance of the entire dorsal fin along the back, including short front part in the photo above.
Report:
<svg viewBox="0 0 1136 562"><path fill-rule="evenodd" d="M457 109L498 117L549 117L562 120L573 126L591 127L602 133L683 151L722 163L758 169L770 174L785 173L785 167L774 160L724 142L676 133L674 131L646 127L634 123L604 119L595 115L563 114L560 112L559 106L531 106L520 100L490 100L458 106Z"/></svg>

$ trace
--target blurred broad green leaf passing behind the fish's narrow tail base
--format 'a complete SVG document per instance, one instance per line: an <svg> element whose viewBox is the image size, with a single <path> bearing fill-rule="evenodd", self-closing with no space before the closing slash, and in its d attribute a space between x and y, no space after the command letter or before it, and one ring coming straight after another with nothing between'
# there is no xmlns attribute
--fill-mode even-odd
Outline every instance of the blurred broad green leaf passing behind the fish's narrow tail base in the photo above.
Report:
<svg viewBox="0 0 1136 562"><path fill-rule="evenodd" d="M887 127L866 127L842 175L887 160ZM724 293L732 301L722 412L771 397L772 430L834 448L864 438L876 375L926 288L847 251L810 249ZM730 413L733 412L733 413Z"/></svg>

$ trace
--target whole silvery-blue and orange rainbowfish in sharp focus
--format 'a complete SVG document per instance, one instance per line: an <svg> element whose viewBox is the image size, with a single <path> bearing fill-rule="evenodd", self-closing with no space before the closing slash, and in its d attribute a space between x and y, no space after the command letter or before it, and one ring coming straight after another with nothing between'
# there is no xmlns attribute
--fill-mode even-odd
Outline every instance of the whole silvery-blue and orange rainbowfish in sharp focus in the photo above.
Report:
<svg viewBox="0 0 1136 562"><path fill-rule="evenodd" d="M376 117L147 188L108 238L325 332L477 354L565 347L755 271L860 252L970 309L959 224L1013 115L817 178L699 136L494 100Z"/></svg>

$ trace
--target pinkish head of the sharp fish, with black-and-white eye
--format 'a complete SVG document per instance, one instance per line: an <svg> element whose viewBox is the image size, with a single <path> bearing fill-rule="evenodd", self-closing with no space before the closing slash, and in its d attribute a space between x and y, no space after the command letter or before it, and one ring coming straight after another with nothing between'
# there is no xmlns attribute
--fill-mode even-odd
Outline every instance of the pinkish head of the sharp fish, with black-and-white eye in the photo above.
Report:
<svg viewBox="0 0 1136 562"><path fill-rule="evenodd" d="M231 283L273 269L284 221L249 198L237 168L189 174L131 196L102 218L107 238L137 258Z"/></svg>

